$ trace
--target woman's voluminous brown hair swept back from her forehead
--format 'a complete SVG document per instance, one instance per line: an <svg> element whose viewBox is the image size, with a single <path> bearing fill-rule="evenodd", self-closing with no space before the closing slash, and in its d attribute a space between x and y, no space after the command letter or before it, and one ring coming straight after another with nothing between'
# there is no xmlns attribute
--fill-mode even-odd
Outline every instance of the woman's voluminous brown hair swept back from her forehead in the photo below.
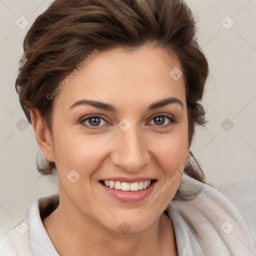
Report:
<svg viewBox="0 0 256 256"><path fill-rule="evenodd" d="M183 0L53 1L35 19L23 41L15 89L28 122L29 109L38 109L42 122L52 132L54 98L47 95L61 82L63 85L66 75L95 49L132 51L143 45L161 47L181 64L190 147L195 125L204 126L206 122L200 101L208 63L197 43L194 16ZM205 183L205 175L193 159L197 167L190 164L184 171ZM43 159L37 161L37 170L41 175L54 175L56 165Z"/></svg>

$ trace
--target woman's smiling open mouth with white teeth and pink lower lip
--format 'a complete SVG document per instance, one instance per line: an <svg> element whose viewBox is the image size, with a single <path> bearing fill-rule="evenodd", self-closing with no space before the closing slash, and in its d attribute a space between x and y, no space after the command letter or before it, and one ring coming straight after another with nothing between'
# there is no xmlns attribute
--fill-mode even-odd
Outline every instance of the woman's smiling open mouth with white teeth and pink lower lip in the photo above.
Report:
<svg viewBox="0 0 256 256"><path fill-rule="evenodd" d="M127 181L127 180L125 180ZM122 202L138 202L150 195L157 179L143 179L135 182L99 180L106 194Z"/></svg>

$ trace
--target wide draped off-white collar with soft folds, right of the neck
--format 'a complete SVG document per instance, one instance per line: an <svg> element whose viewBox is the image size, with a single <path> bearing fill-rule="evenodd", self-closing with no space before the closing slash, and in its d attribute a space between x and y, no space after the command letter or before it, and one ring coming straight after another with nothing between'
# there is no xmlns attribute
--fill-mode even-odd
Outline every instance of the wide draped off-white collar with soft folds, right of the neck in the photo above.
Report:
<svg viewBox="0 0 256 256"><path fill-rule="evenodd" d="M201 185L184 173L179 189L187 193ZM190 200L172 200L167 213L173 223L178 255L256 255L241 214L225 196L206 184Z"/></svg>

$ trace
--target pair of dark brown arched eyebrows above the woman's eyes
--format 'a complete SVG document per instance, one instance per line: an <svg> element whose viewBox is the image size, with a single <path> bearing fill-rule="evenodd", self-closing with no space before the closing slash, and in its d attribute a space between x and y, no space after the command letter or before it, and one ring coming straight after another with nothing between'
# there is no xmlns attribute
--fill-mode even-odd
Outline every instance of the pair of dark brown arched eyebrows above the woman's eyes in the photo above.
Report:
<svg viewBox="0 0 256 256"><path fill-rule="evenodd" d="M173 104L173 103L178 103L183 108L183 103L180 99L178 99L176 97L168 97L168 98L165 98L165 99L162 99L162 100L159 100L159 101L156 101L156 102L152 103L151 105L149 105L147 107L147 110L151 111L151 110L156 109L158 107L162 107L162 106L165 106L165 105L168 105L168 104ZM91 105L91 106L94 106L96 108L112 111L114 113L116 113L118 111L118 109L112 104L108 104L108 103L104 103L104 102L100 102L100 101L96 101L96 100L88 100L88 99L77 100L76 102L74 102L69 107L69 110L71 110L75 106L79 106L79 105Z"/></svg>

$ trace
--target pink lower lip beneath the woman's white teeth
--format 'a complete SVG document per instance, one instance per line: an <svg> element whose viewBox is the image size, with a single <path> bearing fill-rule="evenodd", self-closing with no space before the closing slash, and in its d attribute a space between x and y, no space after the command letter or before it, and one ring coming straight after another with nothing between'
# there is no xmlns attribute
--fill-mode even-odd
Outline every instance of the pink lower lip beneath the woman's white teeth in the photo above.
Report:
<svg viewBox="0 0 256 256"><path fill-rule="evenodd" d="M138 202L147 198L152 192L155 183L156 181L150 184L147 188L137 191L122 191L121 189L109 188L99 182L107 194L122 202Z"/></svg>

